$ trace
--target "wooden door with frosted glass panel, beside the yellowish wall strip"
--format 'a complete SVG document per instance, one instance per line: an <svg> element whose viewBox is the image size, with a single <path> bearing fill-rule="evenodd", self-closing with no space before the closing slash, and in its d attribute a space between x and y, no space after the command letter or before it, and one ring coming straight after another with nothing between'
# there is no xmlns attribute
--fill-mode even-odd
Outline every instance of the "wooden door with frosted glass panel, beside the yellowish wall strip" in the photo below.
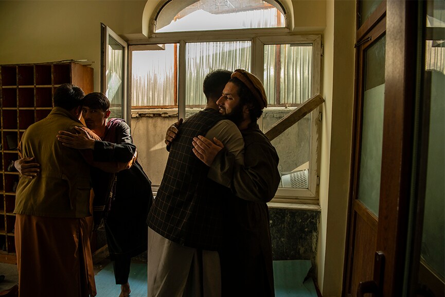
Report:
<svg viewBox="0 0 445 297"><path fill-rule="evenodd" d="M368 6L366 6L368 5ZM376 251L385 92L386 2L358 2L354 148L345 296L372 278Z"/></svg>

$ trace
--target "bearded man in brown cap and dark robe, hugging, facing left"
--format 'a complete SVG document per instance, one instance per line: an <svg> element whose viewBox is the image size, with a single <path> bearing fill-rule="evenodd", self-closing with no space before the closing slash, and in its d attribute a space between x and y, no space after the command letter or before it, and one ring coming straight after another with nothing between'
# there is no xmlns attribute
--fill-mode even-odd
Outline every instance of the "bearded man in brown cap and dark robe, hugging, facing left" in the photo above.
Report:
<svg viewBox="0 0 445 297"><path fill-rule="evenodd" d="M232 190L224 209L224 243L220 251L222 295L274 296L269 202L280 181L278 154L258 127L267 107L261 81L237 69L217 101L219 111L234 121L244 138L244 165L218 139L193 140L193 152L210 166L208 178Z"/></svg>

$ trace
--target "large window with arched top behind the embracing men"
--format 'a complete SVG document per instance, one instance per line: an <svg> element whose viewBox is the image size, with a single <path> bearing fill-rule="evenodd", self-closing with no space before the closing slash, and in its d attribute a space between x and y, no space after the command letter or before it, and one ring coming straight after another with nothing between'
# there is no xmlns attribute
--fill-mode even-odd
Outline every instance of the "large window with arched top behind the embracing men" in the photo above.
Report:
<svg viewBox="0 0 445 297"><path fill-rule="evenodd" d="M147 160L143 166L154 185L161 182L167 160L163 143L167 127L178 117L187 118L204 108L202 82L213 69L233 71L243 68L264 82L269 106L258 122L263 132L320 92L321 37L291 35L284 27L285 12L278 2L243 1L243 10L239 6L241 1L202 0L182 7L183 3L169 1L157 13L150 39L153 44L130 46L134 120L143 127L152 127L151 124L143 124L147 119L157 123L156 128L149 132L153 135L143 137L147 145L137 144L139 160ZM227 16L242 11L247 13L244 17L246 23L252 24L257 18L255 15L273 10L274 22L265 22L264 17L255 26L243 27L250 28L248 30L220 25L218 30L212 27L205 33L196 32L209 29L203 23L188 29L193 31L175 32L179 31L173 26L175 22L185 20L187 15L199 9L208 10L210 3L238 3L230 9L222 5L218 13ZM213 9L216 10L215 7ZM228 29L232 29L230 34L227 34ZM317 203L319 118L318 109L315 109L273 139L272 144L280 156L279 170L282 174L275 201ZM145 147L146 151L141 152ZM152 164L162 160L165 162L161 165Z"/></svg>

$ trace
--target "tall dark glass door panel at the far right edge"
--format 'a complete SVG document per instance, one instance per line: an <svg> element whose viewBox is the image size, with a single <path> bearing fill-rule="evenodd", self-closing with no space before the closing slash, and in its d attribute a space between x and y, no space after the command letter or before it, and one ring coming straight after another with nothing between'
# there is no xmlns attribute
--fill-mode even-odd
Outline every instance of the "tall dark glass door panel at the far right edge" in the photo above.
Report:
<svg viewBox="0 0 445 297"><path fill-rule="evenodd" d="M425 206L421 245L421 263L440 281L445 275L445 5L428 2L426 15L425 88L430 92L430 127L426 167ZM437 33L441 32L441 34ZM424 102L428 102L424 100ZM425 277L421 274L421 278ZM422 281L424 283L424 280ZM437 288L429 284L438 296ZM443 294L443 285L441 286Z"/></svg>

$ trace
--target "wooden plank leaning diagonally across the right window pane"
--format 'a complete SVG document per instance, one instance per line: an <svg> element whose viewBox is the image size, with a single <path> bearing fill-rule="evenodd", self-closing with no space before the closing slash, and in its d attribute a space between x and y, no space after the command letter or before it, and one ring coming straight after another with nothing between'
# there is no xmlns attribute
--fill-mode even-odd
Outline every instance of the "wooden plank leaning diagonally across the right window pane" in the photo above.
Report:
<svg viewBox="0 0 445 297"><path fill-rule="evenodd" d="M270 141L272 141L272 139L275 139L275 137L292 127L292 125L304 118L308 113L316 109L323 102L325 102L325 99L323 99L320 94L316 94L305 103L301 104L301 106L295 109L293 112L277 121L277 123L275 123L275 125L273 125L264 134Z"/></svg>

